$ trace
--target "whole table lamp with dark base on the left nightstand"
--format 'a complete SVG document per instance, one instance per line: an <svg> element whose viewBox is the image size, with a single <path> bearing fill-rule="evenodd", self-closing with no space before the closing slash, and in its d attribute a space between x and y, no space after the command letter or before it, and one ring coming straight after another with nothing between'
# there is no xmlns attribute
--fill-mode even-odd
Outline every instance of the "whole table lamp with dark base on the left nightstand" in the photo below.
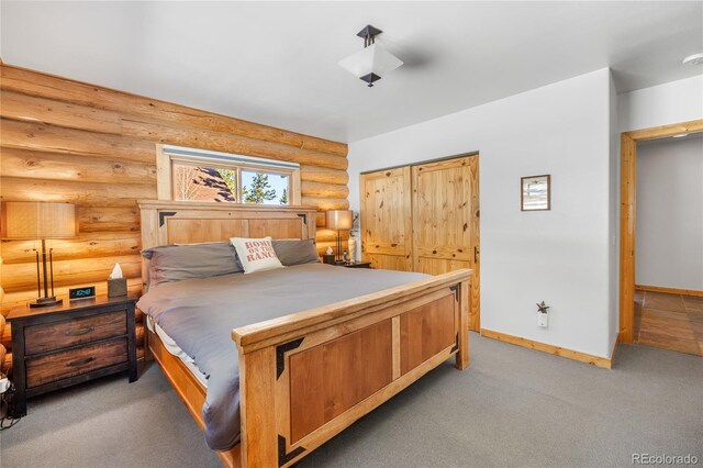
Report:
<svg viewBox="0 0 703 468"><path fill-rule="evenodd" d="M46 265L46 239L70 238L78 235L76 205L41 201L5 201L0 210L0 235L3 239L42 241L42 275L40 275L40 252L34 249L38 297L35 302L30 303L30 308L60 304L63 300L54 296L53 248L48 249L48 268ZM49 283L52 296L48 294ZM42 285L44 286L43 297Z"/></svg>

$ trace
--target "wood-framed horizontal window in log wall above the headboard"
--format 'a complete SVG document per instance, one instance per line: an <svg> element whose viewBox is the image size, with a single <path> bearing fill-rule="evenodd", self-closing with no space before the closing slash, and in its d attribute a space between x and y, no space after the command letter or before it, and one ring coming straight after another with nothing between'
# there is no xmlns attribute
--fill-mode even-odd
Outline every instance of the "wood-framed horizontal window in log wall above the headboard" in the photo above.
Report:
<svg viewBox="0 0 703 468"><path fill-rule="evenodd" d="M159 199L300 204L298 164L178 146L161 146Z"/></svg>

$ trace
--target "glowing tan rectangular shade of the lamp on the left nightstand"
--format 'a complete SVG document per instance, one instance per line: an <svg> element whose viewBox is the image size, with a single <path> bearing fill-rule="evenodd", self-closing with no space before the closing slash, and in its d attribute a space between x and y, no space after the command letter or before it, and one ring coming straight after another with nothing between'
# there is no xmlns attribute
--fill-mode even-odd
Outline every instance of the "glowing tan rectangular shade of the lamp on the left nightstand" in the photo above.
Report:
<svg viewBox="0 0 703 468"><path fill-rule="evenodd" d="M0 212L2 238L44 239L78 235L76 205L41 201L5 201Z"/></svg>

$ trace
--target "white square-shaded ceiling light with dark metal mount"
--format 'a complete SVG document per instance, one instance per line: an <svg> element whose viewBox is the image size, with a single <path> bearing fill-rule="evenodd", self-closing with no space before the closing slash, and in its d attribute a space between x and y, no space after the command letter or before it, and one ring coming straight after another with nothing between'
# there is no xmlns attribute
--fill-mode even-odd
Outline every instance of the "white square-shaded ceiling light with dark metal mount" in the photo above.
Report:
<svg viewBox="0 0 703 468"><path fill-rule="evenodd" d="M339 60L342 68L357 76L369 88L389 71L403 65L401 59L376 44L376 36L382 32L370 24L367 25L357 33L357 36L364 37L364 49Z"/></svg>

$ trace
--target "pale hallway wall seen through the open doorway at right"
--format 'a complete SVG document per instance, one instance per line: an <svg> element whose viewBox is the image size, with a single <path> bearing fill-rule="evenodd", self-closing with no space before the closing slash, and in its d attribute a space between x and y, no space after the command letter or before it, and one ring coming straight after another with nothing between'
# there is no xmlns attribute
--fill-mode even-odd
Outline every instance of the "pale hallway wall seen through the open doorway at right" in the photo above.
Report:
<svg viewBox="0 0 703 468"><path fill-rule="evenodd" d="M703 135L637 145L635 282L703 291Z"/></svg>

